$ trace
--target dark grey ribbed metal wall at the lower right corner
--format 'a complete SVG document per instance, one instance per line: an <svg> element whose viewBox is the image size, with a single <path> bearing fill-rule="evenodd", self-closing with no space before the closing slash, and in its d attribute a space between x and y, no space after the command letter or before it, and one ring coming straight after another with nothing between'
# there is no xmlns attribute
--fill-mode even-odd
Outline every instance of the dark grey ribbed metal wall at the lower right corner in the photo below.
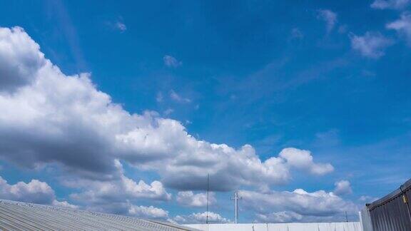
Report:
<svg viewBox="0 0 411 231"><path fill-rule="evenodd" d="M410 231L411 215L409 201L405 203L402 195L411 198L411 180L382 199L367 205L370 211L373 231Z"/></svg>

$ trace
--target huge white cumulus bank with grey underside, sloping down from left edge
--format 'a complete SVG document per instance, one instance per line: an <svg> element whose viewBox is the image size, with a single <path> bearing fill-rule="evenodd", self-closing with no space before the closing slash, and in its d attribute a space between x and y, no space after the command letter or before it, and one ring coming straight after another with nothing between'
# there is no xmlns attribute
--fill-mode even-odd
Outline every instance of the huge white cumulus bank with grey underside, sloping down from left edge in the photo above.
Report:
<svg viewBox="0 0 411 231"><path fill-rule="evenodd" d="M204 190L206 173L210 190L233 190L287 183L292 168L316 175L333 170L330 164L315 163L305 150L262 161L250 145L236 149L209 143L189 135L177 120L155 112L128 113L98 91L88 74L61 73L22 29L1 28L0 34L0 56L9 60L0 62L0 69L15 73L0 78L30 79L0 90L0 156L5 160L26 168L59 165L69 173L65 178L95 181L88 184L91 191L94 184L126 187L118 160L153 170L162 183L178 190ZM10 38L14 36L19 39ZM26 53L33 59L27 64L29 74L19 71L26 65Z"/></svg>

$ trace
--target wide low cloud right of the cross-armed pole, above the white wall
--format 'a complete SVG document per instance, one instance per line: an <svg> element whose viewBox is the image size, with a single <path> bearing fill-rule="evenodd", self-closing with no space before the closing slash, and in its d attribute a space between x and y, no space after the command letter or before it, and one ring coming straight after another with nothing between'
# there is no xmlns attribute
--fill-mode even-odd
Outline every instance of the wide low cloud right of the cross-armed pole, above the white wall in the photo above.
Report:
<svg viewBox="0 0 411 231"><path fill-rule="evenodd" d="M313 193L302 189L265 193L241 190L239 194L243 205L255 212L259 222L335 220L345 211L356 214L358 210L355 203L323 190Z"/></svg>

